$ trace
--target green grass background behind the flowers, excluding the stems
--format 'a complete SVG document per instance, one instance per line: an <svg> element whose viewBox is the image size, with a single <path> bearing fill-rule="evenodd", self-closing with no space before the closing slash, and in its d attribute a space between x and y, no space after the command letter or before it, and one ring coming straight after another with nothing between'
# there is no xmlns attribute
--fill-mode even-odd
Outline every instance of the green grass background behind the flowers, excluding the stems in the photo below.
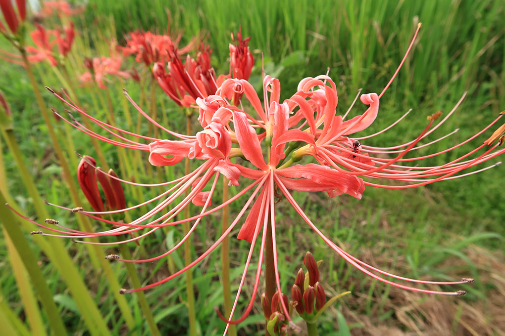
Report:
<svg viewBox="0 0 505 336"><path fill-rule="evenodd" d="M90 1L84 14L84 21L77 19L83 35L82 44L89 45L74 50L68 67L76 74L84 72L82 56L106 54L108 44L99 36L117 34L118 38L132 29L157 29L164 32L167 26L165 2L153 1L147 11L139 10L143 2L130 0L115 3ZM227 70L229 35L240 26L245 36L251 36L250 46L255 49L256 66L252 83L261 83L261 52L265 56L265 69L279 77L282 83L282 98L295 92L298 81L306 76L316 76L330 67L338 85L339 106L343 112L354 98L358 88L364 92L380 92L394 72L403 52L406 50L418 21L423 22L420 37L414 52L401 70L392 87L381 99L381 109L377 122L364 133L382 129L403 114L408 108L414 111L407 120L380 137L366 142L367 145L392 146L417 136L425 125L425 116L438 109L449 111L465 90L469 96L459 111L437 130L429 139L436 139L455 128L460 132L435 145L429 153L445 149L451 144L466 139L487 124L505 106L505 44L504 30L500 17L505 7L500 2L415 2L403 1L399 4L387 2L342 1L334 6L330 2L289 2L278 3L257 1L244 2L192 2L174 1L168 6L171 29L183 31L183 41L200 31L208 33L207 42L214 49L213 64L217 73ZM246 8L246 9L245 9ZM106 18L114 18L113 24ZM91 24L97 19L96 25ZM99 34L95 28L99 28ZM4 39L0 48L13 51ZM79 53L79 51L82 51ZM3 61L2 61L3 62ZM68 191L61 179L61 169L52 152L52 145L46 136L38 107L29 86L28 79L20 66L2 63L0 67L0 88L9 100L13 113L15 135L21 146L25 160L29 162L30 173L36 181L43 198L52 203L72 207ZM130 64L132 65L133 62ZM40 86L52 88L62 86L59 79L45 64L37 66ZM138 84L113 81L110 92L117 115L117 123L125 129L133 129L124 116L121 89L125 87L134 100L142 101ZM257 85L258 87L258 85ZM94 107L92 95L100 95L88 88L78 88L78 96L84 106L103 118L107 111ZM48 92L43 92L48 106L63 111L63 106ZM97 96L96 96L97 97ZM164 109L162 123L170 129L183 131L184 116L161 90L157 90L158 108ZM356 115L362 111L361 103L353 110ZM136 120L133 108L130 112ZM352 112L351 112L352 113ZM61 122L55 122L59 134L64 134ZM146 124L140 125L141 132L147 131ZM71 136L76 151L94 156L89 139L83 133L72 130ZM479 139L471 148L480 144ZM61 136L62 143L65 143ZM470 146L470 145L468 145ZM457 150L448 156L428 160L427 165L436 165L451 160L468 151L470 147ZM103 144L109 166L118 167L118 151ZM12 154L2 142L2 153L7 184L10 194L24 213L34 217L31 195L26 193L19 177ZM69 153L69 155L73 155ZM141 157L146 160L146 156ZM499 161L494 160L492 163ZM75 167L74 167L75 168ZM167 171L167 176L179 176L182 168ZM124 172L117 170L121 175ZM464 304L478 307L495 293L499 277L497 270L489 270L471 253L475 247L483 246L485 253L501 254L497 259L504 262L503 227L505 222L505 196L502 192L503 166L464 179L439 182L414 190L383 190L367 188L360 201L346 196L328 199L326 194L298 193L295 197L309 217L336 242L341 242L346 250L366 261L375 262L380 268L395 271L406 276L423 279L454 279L475 277L473 286L462 286L469 295L462 299ZM169 177L163 176L163 179ZM152 183L158 178L141 176L139 182ZM158 193L158 189L129 188L128 204L137 204ZM232 189L232 192L234 190ZM220 192L216 194L219 199ZM241 204L239 201L238 204ZM238 204L232 214L239 210ZM145 207L144 207L145 208ZM143 214L140 209L135 215ZM69 225L76 225L75 216L68 212L48 208L53 218ZM316 259L323 259L323 281L325 289L335 293L345 290L353 292L344 298L343 306L331 310L319 325L321 334L339 328L345 334L345 322L341 313L352 311L363 319L370 319L375 325L398 327L403 331L413 331L402 325L395 315L394 304L397 292L382 284L372 282L357 270L347 266L313 233L284 200L277 209L278 250L281 266L281 281L289 291L296 270L302 265L306 250L311 250ZM220 234L219 216L206 218L194 235L193 256L205 251ZM26 231L25 233L27 233ZM233 233L236 235L238 231ZM174 245L182 237L179 231L162 231L143 239L142 246L148 256L157 255ZM52 261L40 251L36 237L28 236L31 248L38 255L44 279L52 290L60 315L71 334L89 334L89 326L82 319L74 298L67 285L61 281ZM293 244L293 242L297 242ZM105 323L112 334L148 334L142 312L135 296L128 297L135 329L127 330L124 316L116 307L106 278L94 270L87 250L80 244L64 241L78 267L79 274L88 286L89 295L98 306ZM136 257L140 251L135 244L128 245ZM246 243L232 238L231 260L234 290L238 286L241 265L245 261ZM115 253L113 246L107 253ZM258 255L258 247L256 255ZM485 254L484 253L484 254ZM8 261L6 243L0 238L0 287L10 310L28 326L20 292ZM183 255L174 252L167 263L165 259L154 264L136 266L139 278L144 284L150 283L183 266ZM129 287L124 265L113 264L120 283ZM250 274L256 265L251 264ZM154 273L154 271L157 271ZM223 323L217 318L213 307L222 307L222 288L219 283L219 251L211 254L193 270L196 289L196 306L200 307L197 319L201 334L222 333ZM494 277L494 278L493 278ZM501 275L502 277L502 275ZM494 280L493 280L494 279ZM238 311L247 305L252 285L245 287ZM448 289L448 288L444 288ZM163 334L184 334L187 327L184 278L178 277L163 286L146 292L158 327ZM421 297L419 300L425 300ZM444 298L440 299L448 302ZM258 300L257 300L258 301ZM455 303L457 304L457 303ZM4 312L4 310L2 310ZM483 311L485 314L486 312ZM4 313L8 314L8 313ZM4 315L2 315L4 316ZM7 315L6 315L7 316ZM456 316L456 315L455 315ZM457 317L457 316L456 316ZM458 319L455 317L456 321ZM47 325L47 317L42 312ZM349 314L345 314L349 328L367 328ZM427 317L426 317L427 318ZM338 323L336 320L338 319ZM263 323L260 305L255 305L254 314L239 325L241 334L262 334ZM457 325L458 322L454 322ZM49 330L46 330L49 331Z"/></svg>

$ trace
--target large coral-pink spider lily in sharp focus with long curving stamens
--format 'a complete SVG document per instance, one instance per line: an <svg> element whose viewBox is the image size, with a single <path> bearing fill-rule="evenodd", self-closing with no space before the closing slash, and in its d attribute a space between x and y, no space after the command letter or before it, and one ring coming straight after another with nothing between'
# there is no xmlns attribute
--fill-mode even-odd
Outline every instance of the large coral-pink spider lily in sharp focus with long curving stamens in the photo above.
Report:
<svg viewBox="0 0 505 336"><path fill-rule="evenodd" d="M416 35L417 31L414 39ZM400 66L403 61L405 61L405 58L414 43L414 39L412 40L405 57L401 61ZM280 197L278 193L280 191L300 217L304 219L310 228L316 231L316 233L328 244L328 246L330 246L348 263L354 265L370 277L389 285L416 292L457 296L463 295L465 294L464 291L441 292L435 290L425 290L398 284L383 278L383 276L392 277L396 280L428 285L456 285L470 283L473 281L473 279L466 278L455 282L423 281L409 279L379 270L378 268L375 268L347 253L335 242L331 241L308 218L289 191L327 191L329 197L346 193L360 199L366 185L384 188L410 188L440 180L463 177L471 173L461 175L456 174L464 169L483 163L484 161L505 152L505 149L496 149L498 144L491 143L491 141L494 142L499 137L499 135L496 135L497 133L495 132L486 144L480 145L468 154L447 162L446 164L436 167L409 165L408 163L410 161L438 156L469 143L480 136L485 130L501 118L501 115L498 116L475 136L447 150L418 158L403 158L408 152L415 150L416 148L420 148L421 146L417 146L417 144L422 139L426 138L433 130L438 128L448 118L448 116L452 114L453 111L451 111L447 117L441 120L433 128L431 128L431 126L439 114L430 116L428 118L429 120L426 128L420 132L418 137L406 144L390 148L362 146L362 149L358 150L358 148L353 145L354 139L349 139L348 136L360 130L365 130L375 120L379 109L379 98L384 94L387 87L396 76L400 66L380 95L370 93L361 96L361 101L367 106L367 108L363 114L350 120L344 120L344 117L336 114L338 102L336 86L328 76L319 76L316 78L306 78L302 80L298 85L298 91L283 102L280 101L280 82L275 78L266 76L263 82L263 103L254 88L247 81L227 79L218 88L215 95L210 95L203 99L196 98L196 104L199 107L199 122L203 128L196 133L196 136L184 136L165 128L142 111L140 107L127 95L127 98L139 111L139 113L141 113L155 126L167 132L168 135L177 140L155 139L112 126L87 114L78 106L75 106L75 104L71 101L67 101L65 98L57 95L53 90L49 89L58 98L79 112L82 117L89 118L96 125L108 131L114 137L109 139L99 135L93 130L86 128L76 119L64 119L74 127L96 139L124 148L149 152L148 160L151 164L156 166L175 165L184 158L200 160L202 163L185 176L173 181L158 184L139 184L121 180L115 176L106 174L110 178L137 186L168 186L173 184L171 188L159 196L147 200L140 205L123 210L97 212L74 209L74 212L79 212L82 215L94 218L103 223L114 225L114 227L110 230L82 232L65 228L63 226L57 226L58 228L55 229L54 227L49 228L33 221L32 223L44 228L45 230L55 232L54 234L44 233L46 235L77 239L76 241L81 243L95 243L80 240L83 238L116 236L145 230L145 232L138 237L125 239L119 242L125 243L144 237L158 230L160 227L173 226L188 221L194 221L193 226L181 239L181 241L169 251L162 253L161 255L142 260L127 260L120 257L117 258L116 256L114 257L114 259L124 262L151 262L169 255L181 246L198 226L201 218L222 209L223 207L236 201L247 191L252 190L252 194L244 202L243 207L229 225L228 229L222 233L212 246L198 256L194 261L161 281L141 288L121 291L121 293L131 293L146 290L170 281L203 260L240 223L241 227L237 238L248 241L250 243L250 249L244 265L244 271L240 280L236 299L229 316L230 320L228 320L228 323L239 323L245 319L252 309L252 305L254 304L254 300L257 295L264 258L265 243L267 240L266 235L268 232L268 225L270 225L270 232L272 235L271 239L273 242L276 286L278 292L281 292L276 249L277 226L275 221L275 203L276 199ZM229 102L229 99L233 97L234 94L243 95L245 99L243 99L242 103L248 102L244 105L250 105L248 106L250 108L247 109L249 113L243 108L238 108ZM457 106L460 103L461 101L458 102ZM240 106L242 106L242 104ZM387 127L385 130L389 128L390 127ZM503 128L499 128L498 132L502 130ZM130 136L138 138L138 141L129 139ZM374 135L355 139L368 139L372 136ZM150 143L146 144L146 141ZM299 143L302 145L297 145ZM485 149L486 145L488 146L487 149ZM480 150L484 151L482 153L477 153ZM292 152L291 158L288 159L286 156L290 152ZM382 157L375 157L374 155L376 153L389 153L396 156L390 159L384 159ZM468 159L472 155L475 157L473 159ZM295 164L295 162L303 156L312 156L316 163ZM243 157L245 160L238 159L237 157ZM234 162L232 162L232 160ZM371 162L371 164L369 164L369 162ZM91 167L94 166L90 161L87 161L87 163ZM242 188L236 195L225 201L223 204L213 207L212 195L215 191L220 174L226 176L230 184L241 186ZM363 178L366 178L367 181ZM396 179L406 183L401 185L384 185L368 182L368 178ZM204 191L204 187L207 185L210 185L210 191ZM186 191L188 191L187 195L185 195ZM183 200L175 204L176 199L180 196L183 197ZM102 215L122 213L136 209L153 201L156 201L156 206L154 206L145 215L129 223L111 221L101 217ZM201 206L200 213L189 218L174 220L175 216L180 216L182 214L182 210L187 207L190 202ZM249 209L249 206L250 210L244 219L244 214L247 209ZM64 207L60 208L72 210ZM231 320L260 234L261 248L258 268L249 304L240 318ZM99 244L116 244L116 242ZM312 264L311 262L309 263ZM380 275L377 275L376 273ZM314 286L316 286L316 272L313 271L312 274L310 274L310 277L313 278L312 280L309 279L310 282L314 283ZM305 293L299 294L304 296L306 295ZM318 295L322 297L322 295L321 293L318 294L316 292L313 294L314 295L311 293L307 294L307 302L314 302L314 300L316 300L315 304L317 305L317 297ZM312 298L313 296L314 299ZM322 298L320 298L320 300L321 299ZM290 319L284 300L279 300L279 302L280 306L282 306L282 311L285 313L284 316L287 319ZM304 306L305 311L309 311L310 309L313 309L312 305Z"/></svg>

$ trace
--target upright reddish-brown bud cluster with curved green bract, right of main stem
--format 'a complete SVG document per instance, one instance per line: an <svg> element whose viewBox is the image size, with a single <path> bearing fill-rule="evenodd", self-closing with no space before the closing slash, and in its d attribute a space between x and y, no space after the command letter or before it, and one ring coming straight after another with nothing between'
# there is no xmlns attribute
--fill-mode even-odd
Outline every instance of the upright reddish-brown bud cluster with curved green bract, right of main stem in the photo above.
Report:
<svg viewBox="0 0 505 336"><path fill-rule="evenodd" d="M319 282L319 263L314 259L311 252L307 252L304 257L304 264L308 272L306 274L300 268L291 288L291 298L293 299L291 306L294 306L298 314L310 323L314 323L335 300L350 293L344 292L327 302L323 286Z"/></svg>

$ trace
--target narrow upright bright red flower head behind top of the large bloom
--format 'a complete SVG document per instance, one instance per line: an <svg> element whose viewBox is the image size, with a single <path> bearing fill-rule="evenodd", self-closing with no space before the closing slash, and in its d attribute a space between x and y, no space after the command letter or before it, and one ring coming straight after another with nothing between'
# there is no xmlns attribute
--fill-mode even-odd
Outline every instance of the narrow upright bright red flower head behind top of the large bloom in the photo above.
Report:
<svg viewBox="0 0 505 336"><path fill-rule="evenodd" d="M237 38L231 34L230 43L230 75L236 79L248 80L251 75L254 57L249 51L250 37L242 39L242 31L237 32Z"/></svg>

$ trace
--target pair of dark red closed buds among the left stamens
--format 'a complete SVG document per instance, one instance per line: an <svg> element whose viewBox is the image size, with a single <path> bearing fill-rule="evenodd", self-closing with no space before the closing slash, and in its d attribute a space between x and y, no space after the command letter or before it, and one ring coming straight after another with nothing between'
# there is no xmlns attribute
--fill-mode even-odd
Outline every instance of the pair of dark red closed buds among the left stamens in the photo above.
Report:
<svg viewBox="0 0 505 336"><path fill-rule="evenodd" d="M77 181L91 207L95 211L125 209L125 194L116 173L112 169L106 173L95 166L96 161L92 157L84 156L77 167ZM98 191L97 179L104 190L105 203Z"/></svg>

